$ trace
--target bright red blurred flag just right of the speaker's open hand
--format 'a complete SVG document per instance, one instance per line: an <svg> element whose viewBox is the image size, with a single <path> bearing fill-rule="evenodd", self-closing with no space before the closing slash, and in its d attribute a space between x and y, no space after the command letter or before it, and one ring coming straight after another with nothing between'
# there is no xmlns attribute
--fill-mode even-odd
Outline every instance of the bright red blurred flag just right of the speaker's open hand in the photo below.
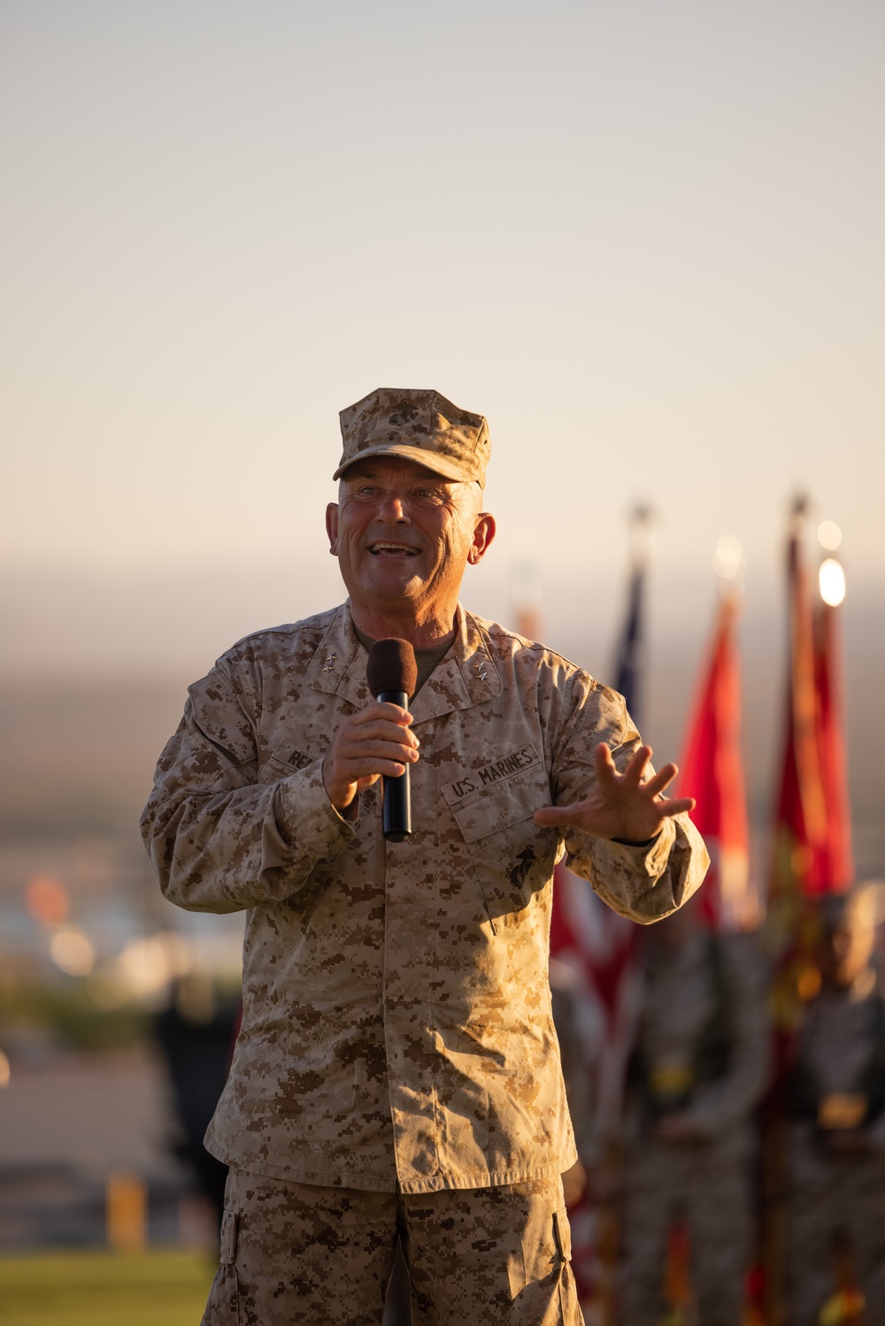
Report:
<svg viewBox="0 0 885 1326"><path fill-rule="evenodd" d="M747 798L740 758L740 664L736 598L723 594L719 618L679 765L679 796L694 797L691 818L710 853L701 911L716 930L742 930L751 911Z"/></svg>

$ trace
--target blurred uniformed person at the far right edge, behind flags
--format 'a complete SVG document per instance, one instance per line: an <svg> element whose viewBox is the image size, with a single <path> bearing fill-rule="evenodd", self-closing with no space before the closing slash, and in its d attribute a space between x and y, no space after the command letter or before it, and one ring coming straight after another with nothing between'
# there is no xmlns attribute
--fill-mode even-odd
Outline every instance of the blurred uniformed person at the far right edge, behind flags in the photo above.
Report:
<svg viewBox="0 0 885 1326"><path fill-rule="evenodd" d="M817 1326L840 1290L885 1322L885 1002L872 964L876 888L820 904L820 991L789 1081L791 1322ZM833 1317L836 1319L836 1317Z"/></svg>

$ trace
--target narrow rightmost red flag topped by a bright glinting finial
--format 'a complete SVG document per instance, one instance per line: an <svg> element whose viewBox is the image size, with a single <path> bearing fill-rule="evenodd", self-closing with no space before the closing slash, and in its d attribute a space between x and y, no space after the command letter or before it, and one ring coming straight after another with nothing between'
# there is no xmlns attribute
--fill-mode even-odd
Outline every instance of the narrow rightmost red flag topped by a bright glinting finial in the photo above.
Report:
<svg viewBox="0 0 885 1326"><path fill-rule="evenodd" d="M835 582L835 583L833 583ZM827 833L817 849L815 878L825 890L843 892L854 878L848 766L843 735L841 640L839 605L845 579L835 557L821 566L821 598L815 619L815 687L817 691L817 757L824 790ZM824 597L825 595L825 597Z"/></svg>

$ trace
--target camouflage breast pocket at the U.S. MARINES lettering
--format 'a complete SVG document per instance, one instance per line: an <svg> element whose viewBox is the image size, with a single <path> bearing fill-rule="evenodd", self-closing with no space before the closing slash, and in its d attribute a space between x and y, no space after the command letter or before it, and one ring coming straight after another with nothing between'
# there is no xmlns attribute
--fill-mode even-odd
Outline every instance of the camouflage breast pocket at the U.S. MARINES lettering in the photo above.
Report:
<svg viewBox="0 0 885 1326"><path fill-rule="evenodd" d="M520 912L553 873L556 830L543 829L532 818L549 804L547 773L536 764L450 806L467 843L492 930L517 924Z"/></svg>

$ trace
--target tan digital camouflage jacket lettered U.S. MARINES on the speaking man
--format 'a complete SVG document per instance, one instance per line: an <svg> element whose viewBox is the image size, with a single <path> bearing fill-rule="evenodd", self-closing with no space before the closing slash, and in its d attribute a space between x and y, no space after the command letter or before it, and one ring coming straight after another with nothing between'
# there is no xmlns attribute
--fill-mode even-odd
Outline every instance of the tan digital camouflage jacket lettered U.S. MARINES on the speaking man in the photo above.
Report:
<svg viewBox="0 0 885 1326"><path fill-rule="evenodd" d="M620 696L462 609L411 704L413 835L385 842L377 785L348 818L321 773L370 701L365 666L346 605L251 635L190 688L159 760L142 829L163 892L247 911L243 1028L207 1146L249 1181L387 1205L547 1184L549 1249L576 1158L547 979L553 865L568 853L650 922L698 886L706 853L685 817L647 846L535 825L586 796L598 741L624 768L638 735Z"/></svg>

